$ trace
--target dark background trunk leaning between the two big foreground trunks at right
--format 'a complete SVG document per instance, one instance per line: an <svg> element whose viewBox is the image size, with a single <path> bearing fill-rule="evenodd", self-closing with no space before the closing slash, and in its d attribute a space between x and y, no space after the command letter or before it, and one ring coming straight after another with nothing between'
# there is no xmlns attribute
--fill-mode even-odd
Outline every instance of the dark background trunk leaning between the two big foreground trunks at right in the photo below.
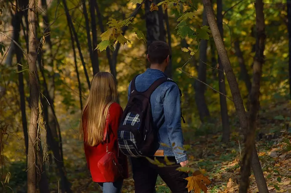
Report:
<svg viewBox="0 0 291 193"><path fill-rule="evenodd" d="M238 40L236 40L234 42L234 49L236 51L236 56L237 56L237 59L239 61L241 77L242 77L242 79L244 80L244 82L246 84L246 88L247 88L248 92L250 93L251 92L251 88L252 88L252 83L251 83L251 79L249 77L248 70L246 69L245 60L244 60L244 57L243 57L243 53L240 50L239 41Z"/></svg>

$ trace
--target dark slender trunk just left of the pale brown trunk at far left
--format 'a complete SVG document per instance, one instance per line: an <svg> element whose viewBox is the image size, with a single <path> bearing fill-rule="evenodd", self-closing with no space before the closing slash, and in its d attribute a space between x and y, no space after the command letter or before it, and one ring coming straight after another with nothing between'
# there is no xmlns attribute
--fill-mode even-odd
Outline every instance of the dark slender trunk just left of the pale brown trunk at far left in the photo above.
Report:
<svg viewBox="0 0 291 193"><path fill-rule="evenodd" d="M17 2L16 2L17 6ZM13 22L13 28L14 28L14 40L20 45L19 42L19 33L20 33L20 23L22 20L22 10L18 11L16 9L16 13L14 16L14 22ZM15 47L15 53L16 53L16 60L17 60L17 70L18 70L18 91L19 91L19 97L20 97L20 109L21 109L21 118L22 118L22 128L23 128L23 134L24 134L24 140L25 140L25 154L27 156L28 153L28 133L27 133L27 120L26 120L26 111L25 111L25 93L24 93L24 81L23 81L23 72L22 72L22 66L18 64L22 64L22 50L20 47Z"/></svg>

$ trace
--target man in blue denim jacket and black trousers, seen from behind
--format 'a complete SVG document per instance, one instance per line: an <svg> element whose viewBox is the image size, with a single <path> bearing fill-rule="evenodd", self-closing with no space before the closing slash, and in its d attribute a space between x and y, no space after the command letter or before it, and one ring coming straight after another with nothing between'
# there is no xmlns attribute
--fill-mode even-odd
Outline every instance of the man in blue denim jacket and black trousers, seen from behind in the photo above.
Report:
<svg viewBox="0 0 291 193"><path fill-rule="evenodd" d="M147 59L151 63L143 74L135 79L135 87L138 92L147 90L151 84L166 77L164 71L170 60L170 47L163 41L154 41L148 48ZM131 83L130 83L131 84ZM129 93L130 96L130 84ZM154 157L163 162L165 156L173 165L158 167L150 163L145 157L132 157L132 172L135 193L153 193L157 176L164 180L173 193L187 193L188 177L185 172L177 171L180 166L188 165L187 154L183 148L183 136L181 129L181 103L178 86L173 82L162 83L150 97L152 117L154 125L159 130L159 148ZM151 157L154 159L154 157Z"/></svg>

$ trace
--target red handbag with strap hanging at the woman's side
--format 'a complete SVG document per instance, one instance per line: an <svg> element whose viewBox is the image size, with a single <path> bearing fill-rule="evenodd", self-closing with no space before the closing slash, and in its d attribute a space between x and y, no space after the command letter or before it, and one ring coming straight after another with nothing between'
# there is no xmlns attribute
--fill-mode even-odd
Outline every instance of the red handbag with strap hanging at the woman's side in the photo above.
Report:
<svg viewBox="0 0 291 193"><path fill-rule="evenodd" d="M118 162L118 155L114 152L108 152L108 128L109 128L109 112L106 118L106 127L104 129L104 137L106 138L106 153L102 156L102 158L97 163L98 168L103 175L106 182L115 182L118 178L122 177L122 167ZM117 154L119 153L119 149L117 148Z"/></svg>

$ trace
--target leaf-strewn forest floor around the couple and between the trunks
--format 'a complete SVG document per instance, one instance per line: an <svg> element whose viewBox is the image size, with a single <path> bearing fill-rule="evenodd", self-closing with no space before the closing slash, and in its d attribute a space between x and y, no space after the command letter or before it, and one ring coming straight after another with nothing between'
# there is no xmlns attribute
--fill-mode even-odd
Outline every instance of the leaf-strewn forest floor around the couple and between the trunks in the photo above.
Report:
<svg viewBox="0 0 291 193"><path fill-rule="evenodd" d="M92 182L86 167L83 144L79 140L78 113L74 115L64 113L58 117L61 128L63 128L64 163L73 192L101 192L99 186ZM205 175L212 182L211 185L207 186L208 192L211 193L238 192L239 160L243 153L243 139L239 131L237 119L231 117L230 120L232 120L232 132L228 144L221 142L221 132L217 132L221 130L220 123L210 124L208 128L183 128L186 144L191 146L191 149L188 150L191 167L206 170L207 173ZM260 110L258 123L256 147L269 192L291 193L291 103L284 102L264 105ZM21 132L19 132L20 135ZM18 143L20 140L19 136L15 136L15 140ZM13 145L15 141L9 144ZM16 147L16 145L13 146ZM18 158L20 154L24 153L20 151L23 151L23 148L16 152L11 149L11 155L9 154L9 159L11 160L9 172L12 174L9 186L17 193L25 192L26 181L26 172L23 169L26 162L24 156ZM14 161L12 161L12 158ZM51 192L59 192L59 179L53 165L49 166L47 174L50 188L52 189ZM156 191L157 193L171 192L161 178L157 180ZM134 192L132 178L125 179L122 192ZM253 174L251 175L249 192L258 192Z"/></svg>

